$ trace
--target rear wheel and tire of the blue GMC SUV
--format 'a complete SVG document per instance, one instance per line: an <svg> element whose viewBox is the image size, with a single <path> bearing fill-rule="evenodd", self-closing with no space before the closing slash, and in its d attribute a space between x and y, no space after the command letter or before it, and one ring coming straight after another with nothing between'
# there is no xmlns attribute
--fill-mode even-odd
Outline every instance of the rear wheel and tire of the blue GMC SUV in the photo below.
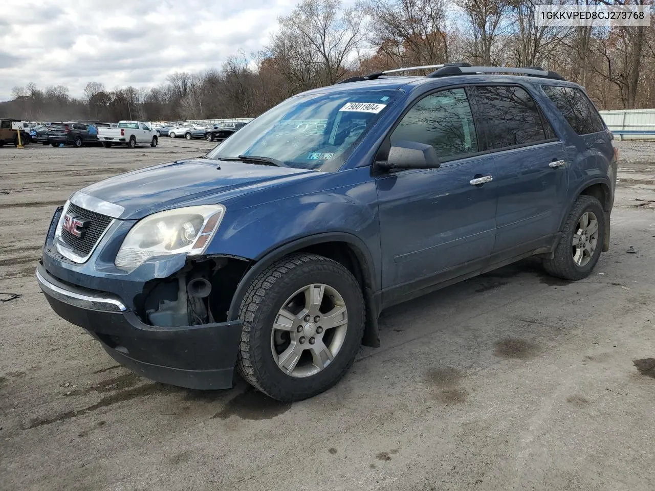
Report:
<svg viewBox="0 0 655 491"><path fill-rule="evenodd" d="M585 216L588 223L586 227L583 226ZM594 228L595 232L591 232ZM561 229L552 259L544 259L546 272L564 280L586 278L601 256L604 240L603 206L593 196L578 196Z"/></svg>

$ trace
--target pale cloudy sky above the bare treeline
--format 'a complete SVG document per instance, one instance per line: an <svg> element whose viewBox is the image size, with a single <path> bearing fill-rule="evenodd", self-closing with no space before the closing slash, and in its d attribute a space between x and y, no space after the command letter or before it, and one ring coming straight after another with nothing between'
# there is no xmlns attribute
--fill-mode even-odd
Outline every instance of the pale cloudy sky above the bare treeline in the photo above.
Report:
<svg viewBox="0 0 655 491"><path fill-rule="evenodd" d="M13 2L11 2L13 3ZM126 0L0 8L0 101L14 86L152 86L255 52L297 0ZM17 5L17 4L16 4Z"/></svg>

